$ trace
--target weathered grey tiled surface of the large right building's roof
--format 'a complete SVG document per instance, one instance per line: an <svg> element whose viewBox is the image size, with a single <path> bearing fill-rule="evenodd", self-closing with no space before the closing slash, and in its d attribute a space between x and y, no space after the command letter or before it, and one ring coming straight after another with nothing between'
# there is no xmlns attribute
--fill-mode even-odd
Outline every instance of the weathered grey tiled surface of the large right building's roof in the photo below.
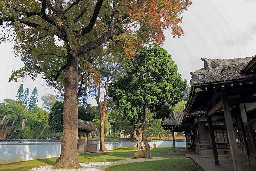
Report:
<svg viewBox="0 0 256 171"><path fill-rule="evenodd" d="M204 68L190 73L192 75L190 85L254 77L256 74L241 73L252 59L253 57L237 59L202 58Z"/></svg>

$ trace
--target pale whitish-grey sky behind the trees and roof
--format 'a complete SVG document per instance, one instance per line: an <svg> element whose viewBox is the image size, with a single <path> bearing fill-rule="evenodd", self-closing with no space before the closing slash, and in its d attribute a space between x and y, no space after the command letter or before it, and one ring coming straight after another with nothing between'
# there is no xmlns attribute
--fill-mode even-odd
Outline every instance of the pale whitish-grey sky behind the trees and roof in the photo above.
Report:
<svg viewBox="0 0 256 171"><path fill-rule="evenodd" d="M163 48L172 55L183 79L190 80L190 72L203 67L201 58L241 58L256 54L256 0L192 0L184 12L185 36L173 38L166 31ZM12 44L0 44L0 101L16 99L19 85L30 91L38 88L40 97L52 93L44 80L26 78L19 82L7 82L13 69L23 67L20 58L12 53ZM96 105L94 99L89 103Z"/></svg>

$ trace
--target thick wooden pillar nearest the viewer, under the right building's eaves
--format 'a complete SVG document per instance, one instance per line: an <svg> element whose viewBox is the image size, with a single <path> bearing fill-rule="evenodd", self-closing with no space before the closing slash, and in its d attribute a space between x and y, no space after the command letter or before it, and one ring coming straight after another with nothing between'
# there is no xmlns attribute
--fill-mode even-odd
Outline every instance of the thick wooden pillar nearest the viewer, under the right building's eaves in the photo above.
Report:
<svg viewBox="0 0 256 171"><path fill-rule="evenodd" d="M231 116L230 105L227 100L227 96L221 94L221 103L224 110L225 124L227 128L227 136L230 145L230 151L233 160L233 167L235 171L241 171L241 165L239 160L239 151L236 145L236 136L234 132L233 119Z"/></svg>

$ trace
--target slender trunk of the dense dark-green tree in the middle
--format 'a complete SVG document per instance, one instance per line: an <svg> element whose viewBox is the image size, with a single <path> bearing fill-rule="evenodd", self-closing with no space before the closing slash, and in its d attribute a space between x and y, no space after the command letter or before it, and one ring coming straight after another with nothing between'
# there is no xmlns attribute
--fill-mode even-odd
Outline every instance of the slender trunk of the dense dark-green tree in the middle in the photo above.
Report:
<svg viewBox="0 0 256 171"><path fill-rule="evenodd" d="M143 138L143 143L145 145L146 158L151 158L150 145L147 139L148 137L148 122L146 121L147 116L148 116L148 107L145 106L142 113L142 138Z"/></svg>

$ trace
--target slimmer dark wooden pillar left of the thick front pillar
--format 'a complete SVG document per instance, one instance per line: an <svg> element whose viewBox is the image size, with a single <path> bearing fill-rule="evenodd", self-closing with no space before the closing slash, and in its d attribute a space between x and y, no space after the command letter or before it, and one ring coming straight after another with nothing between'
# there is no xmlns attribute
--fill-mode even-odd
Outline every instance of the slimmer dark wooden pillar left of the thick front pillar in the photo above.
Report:
<svg viewBox="0 0 256 171"><path fill-rule="evenodd" d="M214 130L213 130L213 126L212 126L212 116L209 116L208 113L207 113L207 121L209 124L210 138L212 141L212 154L214 157L214 163L215 163L215 165L220 165L220 162L218 160L218 151L217 151L217 147L216 147Z"/></svg>

